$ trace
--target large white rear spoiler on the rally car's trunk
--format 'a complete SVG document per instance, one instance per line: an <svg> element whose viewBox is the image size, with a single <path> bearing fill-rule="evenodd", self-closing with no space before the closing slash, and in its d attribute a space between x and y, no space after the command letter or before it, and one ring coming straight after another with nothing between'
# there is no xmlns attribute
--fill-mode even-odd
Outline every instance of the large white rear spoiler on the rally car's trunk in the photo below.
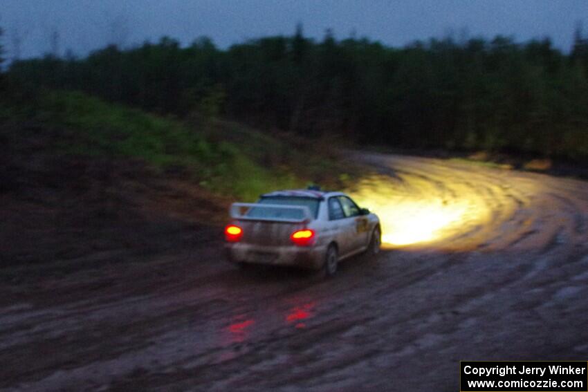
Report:
<svg viewBox="0 0 588 392"><path fill-rule="evenodd" d="M264 210L269 216L264 216ZM245 221L303 223L313 219L309 207L302 205L232 203L229 213L231 218Z"/></svg>

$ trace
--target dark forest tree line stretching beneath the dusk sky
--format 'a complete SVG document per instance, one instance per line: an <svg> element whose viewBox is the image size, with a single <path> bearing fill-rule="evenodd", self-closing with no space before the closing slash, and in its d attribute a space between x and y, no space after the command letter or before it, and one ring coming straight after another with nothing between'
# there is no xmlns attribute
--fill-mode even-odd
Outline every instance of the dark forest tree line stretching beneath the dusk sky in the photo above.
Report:
<svg viewBox="0 0 588 392"><path fill-rule="evenodd" d="M416 41L264 37L217 48L163 37L82 58L13 62L11 88L82 90L178 116L208 111L265 129L418 149L588 160L588 40Z"/></svg>

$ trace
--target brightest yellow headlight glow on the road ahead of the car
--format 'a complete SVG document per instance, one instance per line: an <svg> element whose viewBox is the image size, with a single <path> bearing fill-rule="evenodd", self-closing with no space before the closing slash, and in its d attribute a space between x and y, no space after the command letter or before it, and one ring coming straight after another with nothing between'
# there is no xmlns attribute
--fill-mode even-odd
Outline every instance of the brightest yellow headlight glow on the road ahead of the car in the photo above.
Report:
<svg viewBox="0 0 588 392"><path fill-rule="evenodd" d="M418 176L371 177L349 193L378 215L382 242L393 247L441 241L450 247L452 237L490 218L488 206L475 194L449 197Z"/></svg>

